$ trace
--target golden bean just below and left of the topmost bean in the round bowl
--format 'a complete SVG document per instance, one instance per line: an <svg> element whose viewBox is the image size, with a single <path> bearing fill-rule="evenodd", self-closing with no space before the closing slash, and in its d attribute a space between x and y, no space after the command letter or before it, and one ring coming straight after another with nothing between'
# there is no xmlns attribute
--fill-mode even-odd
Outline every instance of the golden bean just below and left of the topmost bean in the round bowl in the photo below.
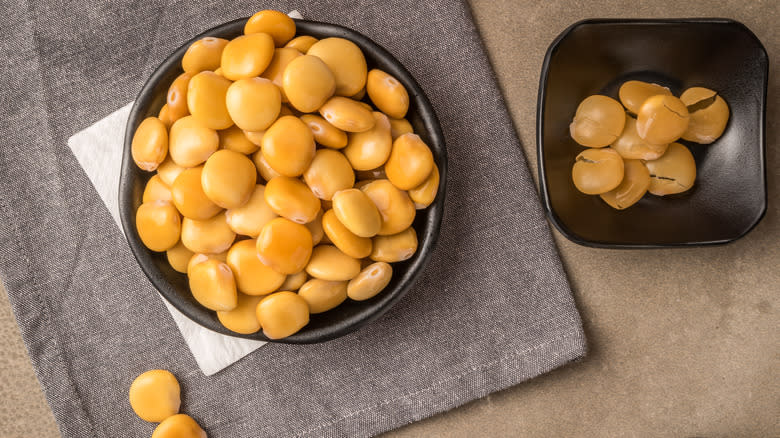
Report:
<svg viewBox="0 0 780 438"><path fill-rule="evenodd" d="M222 74L231 81L260 76L274 56L274 40L267 33L241 35L222 51Z"/></svg>

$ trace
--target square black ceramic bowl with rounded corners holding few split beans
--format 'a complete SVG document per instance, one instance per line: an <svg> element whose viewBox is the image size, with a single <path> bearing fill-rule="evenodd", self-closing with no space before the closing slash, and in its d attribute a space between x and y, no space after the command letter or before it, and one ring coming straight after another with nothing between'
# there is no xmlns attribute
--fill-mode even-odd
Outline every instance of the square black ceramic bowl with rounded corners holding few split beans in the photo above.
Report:
<svg viewBox="0 0 780 438"><path fill-rule="evenodd" d="M539 183L550 220L587 246L652 248L727 243L748 233L767 206L764 118L768 58L756 36L726 19L585 20L547 51L539 85ZM631 79L679 96L692 86L716 90L731 119L711 145L681 141L696 159L694 187L677 196L646 195L626 210L580 193L571 168L583 147L569 135L587 96L617 99Z"/></svg>

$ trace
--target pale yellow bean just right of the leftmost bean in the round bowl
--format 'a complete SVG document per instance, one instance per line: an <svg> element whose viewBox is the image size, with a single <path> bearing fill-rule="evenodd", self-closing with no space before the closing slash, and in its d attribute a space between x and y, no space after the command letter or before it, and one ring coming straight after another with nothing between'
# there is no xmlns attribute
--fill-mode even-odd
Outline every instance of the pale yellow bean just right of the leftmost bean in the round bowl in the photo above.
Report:
<svg viewBox="0 0 780 438"><path fill-rule="evenodd" d="M219 148L217 131L207 127L193 116L182 117L171 126L168 152L182 167L204 163Z"/></svg>

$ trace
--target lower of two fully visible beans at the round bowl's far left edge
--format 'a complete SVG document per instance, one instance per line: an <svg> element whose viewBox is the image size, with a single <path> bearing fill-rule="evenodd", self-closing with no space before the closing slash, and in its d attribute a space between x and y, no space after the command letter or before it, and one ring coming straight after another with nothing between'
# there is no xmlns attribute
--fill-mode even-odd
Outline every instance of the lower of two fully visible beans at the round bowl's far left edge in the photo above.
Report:
<svg viewBox="0 0 780 438"><path fill-rule="evenodd" d="M176 207L168 201L141 204L135 226L144 245L152 251L166 251L179 241L182 222Z"/></svg>

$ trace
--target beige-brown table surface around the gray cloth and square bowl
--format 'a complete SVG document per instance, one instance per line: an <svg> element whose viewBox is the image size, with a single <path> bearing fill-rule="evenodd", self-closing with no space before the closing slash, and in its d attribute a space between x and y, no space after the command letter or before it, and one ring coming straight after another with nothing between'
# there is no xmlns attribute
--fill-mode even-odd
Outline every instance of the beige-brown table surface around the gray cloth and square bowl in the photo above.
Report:
<svg viewBox="0 0 780 438"><path fill-rule="evenodd" d="M733 18L770 59L766 217L740 241L712 248L599 250L556 233L588 357L386 436L780 436L780 3L639 3L471 0L530 165L542 59L569 24ZM0 351L0 437L58 436L5 293Z"/></svg>

